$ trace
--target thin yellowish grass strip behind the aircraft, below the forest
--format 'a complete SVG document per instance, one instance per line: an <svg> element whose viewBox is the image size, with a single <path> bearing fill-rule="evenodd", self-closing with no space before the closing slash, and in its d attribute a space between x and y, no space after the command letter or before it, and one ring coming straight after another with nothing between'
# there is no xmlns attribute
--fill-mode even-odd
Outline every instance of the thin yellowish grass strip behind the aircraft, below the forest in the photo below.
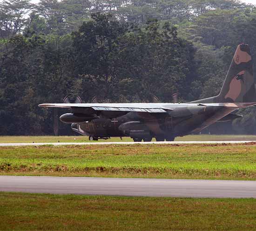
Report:
<svg viewBox="0 0 256 231"><path fill-rule="evenodd" d="M75 139L75 140L74 140ZM44 143L44 142L91 142L88 136L0 136L0 143ZM114 137L109 140L93 142L133 141L130 137ZM155 141L155 138L152 140ZM175 141L256 141L256 135L186 135L176 137Z"/></svg>

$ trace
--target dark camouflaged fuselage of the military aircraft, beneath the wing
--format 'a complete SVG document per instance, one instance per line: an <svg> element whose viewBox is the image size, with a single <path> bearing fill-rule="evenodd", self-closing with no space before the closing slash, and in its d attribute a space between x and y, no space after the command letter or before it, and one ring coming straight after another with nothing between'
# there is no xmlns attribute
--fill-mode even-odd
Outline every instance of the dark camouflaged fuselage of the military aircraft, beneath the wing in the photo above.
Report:
<svg viewBox="0 0 256 231"><path fill-rule="evenodd" d="M73 123L72 129L82 135L98 138L130 136L135 140L173 140L176 136L199 132L218 121L233 110L223 107L182 108L179 113L170 115L143 112L129 112L116 118L96 118L92 121Z"/></svg>

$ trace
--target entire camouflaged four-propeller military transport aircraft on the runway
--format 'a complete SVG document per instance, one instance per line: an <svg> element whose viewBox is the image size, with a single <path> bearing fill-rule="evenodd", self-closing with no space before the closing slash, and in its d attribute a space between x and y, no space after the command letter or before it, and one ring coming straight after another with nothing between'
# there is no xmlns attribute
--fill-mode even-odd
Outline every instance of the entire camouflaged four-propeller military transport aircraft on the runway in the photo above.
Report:
<svg viewBox="0 0 256 231"><path fill-rule="evenodd" d="M237 46L217 96L189 103L44 103L39 107L68 108L60 120L89 140L130 136L134 141L174 141L215 122L240 117L237 109L256 104L249 45Z"/></svg>

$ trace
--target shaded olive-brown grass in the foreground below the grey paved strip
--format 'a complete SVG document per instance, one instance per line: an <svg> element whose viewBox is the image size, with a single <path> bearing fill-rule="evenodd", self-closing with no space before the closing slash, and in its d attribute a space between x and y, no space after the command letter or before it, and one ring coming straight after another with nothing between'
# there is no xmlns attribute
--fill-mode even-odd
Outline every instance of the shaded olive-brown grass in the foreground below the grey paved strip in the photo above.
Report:
<svg viewBox="0 0 256 231"><path fill-rule="evenodd" d="M0 230L255 230L256 199L0 193Z"/></svg>

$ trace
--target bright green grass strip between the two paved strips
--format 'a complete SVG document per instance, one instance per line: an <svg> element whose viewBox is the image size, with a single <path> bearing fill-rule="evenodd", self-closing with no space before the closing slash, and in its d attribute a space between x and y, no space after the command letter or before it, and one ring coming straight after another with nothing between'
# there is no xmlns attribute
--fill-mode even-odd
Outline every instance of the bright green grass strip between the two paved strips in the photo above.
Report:
<svg viewBox="0 0 256 231"><path fill-rule="evenodd" d="M0 174L256 180L256 145L0 147Z"/></svg>

